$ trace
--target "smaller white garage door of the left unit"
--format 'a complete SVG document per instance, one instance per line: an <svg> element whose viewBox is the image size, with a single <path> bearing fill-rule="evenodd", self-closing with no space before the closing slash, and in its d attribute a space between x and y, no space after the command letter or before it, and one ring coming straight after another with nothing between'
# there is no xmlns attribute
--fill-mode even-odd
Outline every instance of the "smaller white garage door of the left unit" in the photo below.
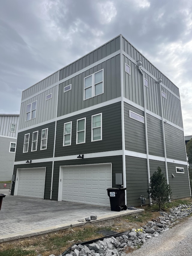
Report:
<svg viewBox="0 0 192 256"><path fill-rule="evenodd" d="M16 195L44 198L45 167L19 169L16 178L18 178Z"/></svg>

